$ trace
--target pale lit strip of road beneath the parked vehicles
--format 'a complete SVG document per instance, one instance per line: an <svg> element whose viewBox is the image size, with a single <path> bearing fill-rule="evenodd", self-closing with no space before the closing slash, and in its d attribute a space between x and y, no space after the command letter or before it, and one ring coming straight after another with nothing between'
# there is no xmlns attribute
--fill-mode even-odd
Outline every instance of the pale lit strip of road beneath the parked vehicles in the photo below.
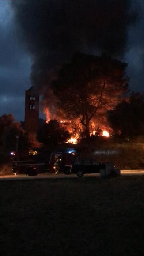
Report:
<svg viewBox="0 0 144 256"><path fill-rule="evenodd" d="M122 176L128 176L128 175L144 175L144 170L121 170ZM98 177L99 174L85 174L84 177L90 176L90 177ZM0 176L0 181L4 180L39 180L39 179L57 179L57 178L79 178L76 176L76 174L58 174L56 176L55 174L38 174L37 176L26 176L26 175L5 175Z"/></svg>

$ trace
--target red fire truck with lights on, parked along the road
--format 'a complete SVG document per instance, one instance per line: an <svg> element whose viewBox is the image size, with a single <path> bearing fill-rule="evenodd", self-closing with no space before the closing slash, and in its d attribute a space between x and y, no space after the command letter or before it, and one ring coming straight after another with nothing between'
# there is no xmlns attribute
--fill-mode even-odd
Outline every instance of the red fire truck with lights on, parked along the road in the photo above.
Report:
<svg viewBox="0 0 144 256"><path fill-rule="evenodd" d="M74 148L57 151L30 150L27 159L14 159L12 163L13 174L26 174L34 176L39 173L55 173L54 163L57 158L61 159L60 172L71 173L71 165L77 159Z"/></svg>

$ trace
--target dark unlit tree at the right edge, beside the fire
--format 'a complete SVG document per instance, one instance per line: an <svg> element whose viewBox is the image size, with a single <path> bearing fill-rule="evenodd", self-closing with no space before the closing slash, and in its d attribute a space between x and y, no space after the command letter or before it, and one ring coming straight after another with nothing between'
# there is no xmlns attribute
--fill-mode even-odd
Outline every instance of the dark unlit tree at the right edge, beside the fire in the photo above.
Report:
<svg viewBox="0 0 144 256"><path fill-rule="evenodd" d="M119 103L107 114L115 134L123 138L144 135L144 95L132 93L129 101Z"/></svg>

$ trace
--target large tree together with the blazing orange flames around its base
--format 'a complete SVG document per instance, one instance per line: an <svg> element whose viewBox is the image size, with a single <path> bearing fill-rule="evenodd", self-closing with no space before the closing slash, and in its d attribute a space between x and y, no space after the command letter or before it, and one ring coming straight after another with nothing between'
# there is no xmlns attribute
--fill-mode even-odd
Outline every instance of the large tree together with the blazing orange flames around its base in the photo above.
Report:
<svg viewBox="0 0 144 256"><path fill-rule="evenodd" d="M71 62L65 63L57 78L51 81L50 97L44 95L46 122L58 120L71 135L67 143L77 143L90 136L109 137L111 129L106 113L113 110L128 91L126 67L127 63L105 54L75 53Z"/></svg>

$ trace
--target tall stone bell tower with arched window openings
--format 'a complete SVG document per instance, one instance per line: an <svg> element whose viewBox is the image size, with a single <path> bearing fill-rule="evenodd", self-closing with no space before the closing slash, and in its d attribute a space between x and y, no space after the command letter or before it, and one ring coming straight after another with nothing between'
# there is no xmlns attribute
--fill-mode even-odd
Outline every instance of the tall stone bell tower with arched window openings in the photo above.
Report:
<svg viewBox="0 0 144 256"><path fill-rule="evenodd" d="M25 118L24 130L27 134L35 134L39 128L39 95L33 90L33 86L25 91Z"/></svg>

